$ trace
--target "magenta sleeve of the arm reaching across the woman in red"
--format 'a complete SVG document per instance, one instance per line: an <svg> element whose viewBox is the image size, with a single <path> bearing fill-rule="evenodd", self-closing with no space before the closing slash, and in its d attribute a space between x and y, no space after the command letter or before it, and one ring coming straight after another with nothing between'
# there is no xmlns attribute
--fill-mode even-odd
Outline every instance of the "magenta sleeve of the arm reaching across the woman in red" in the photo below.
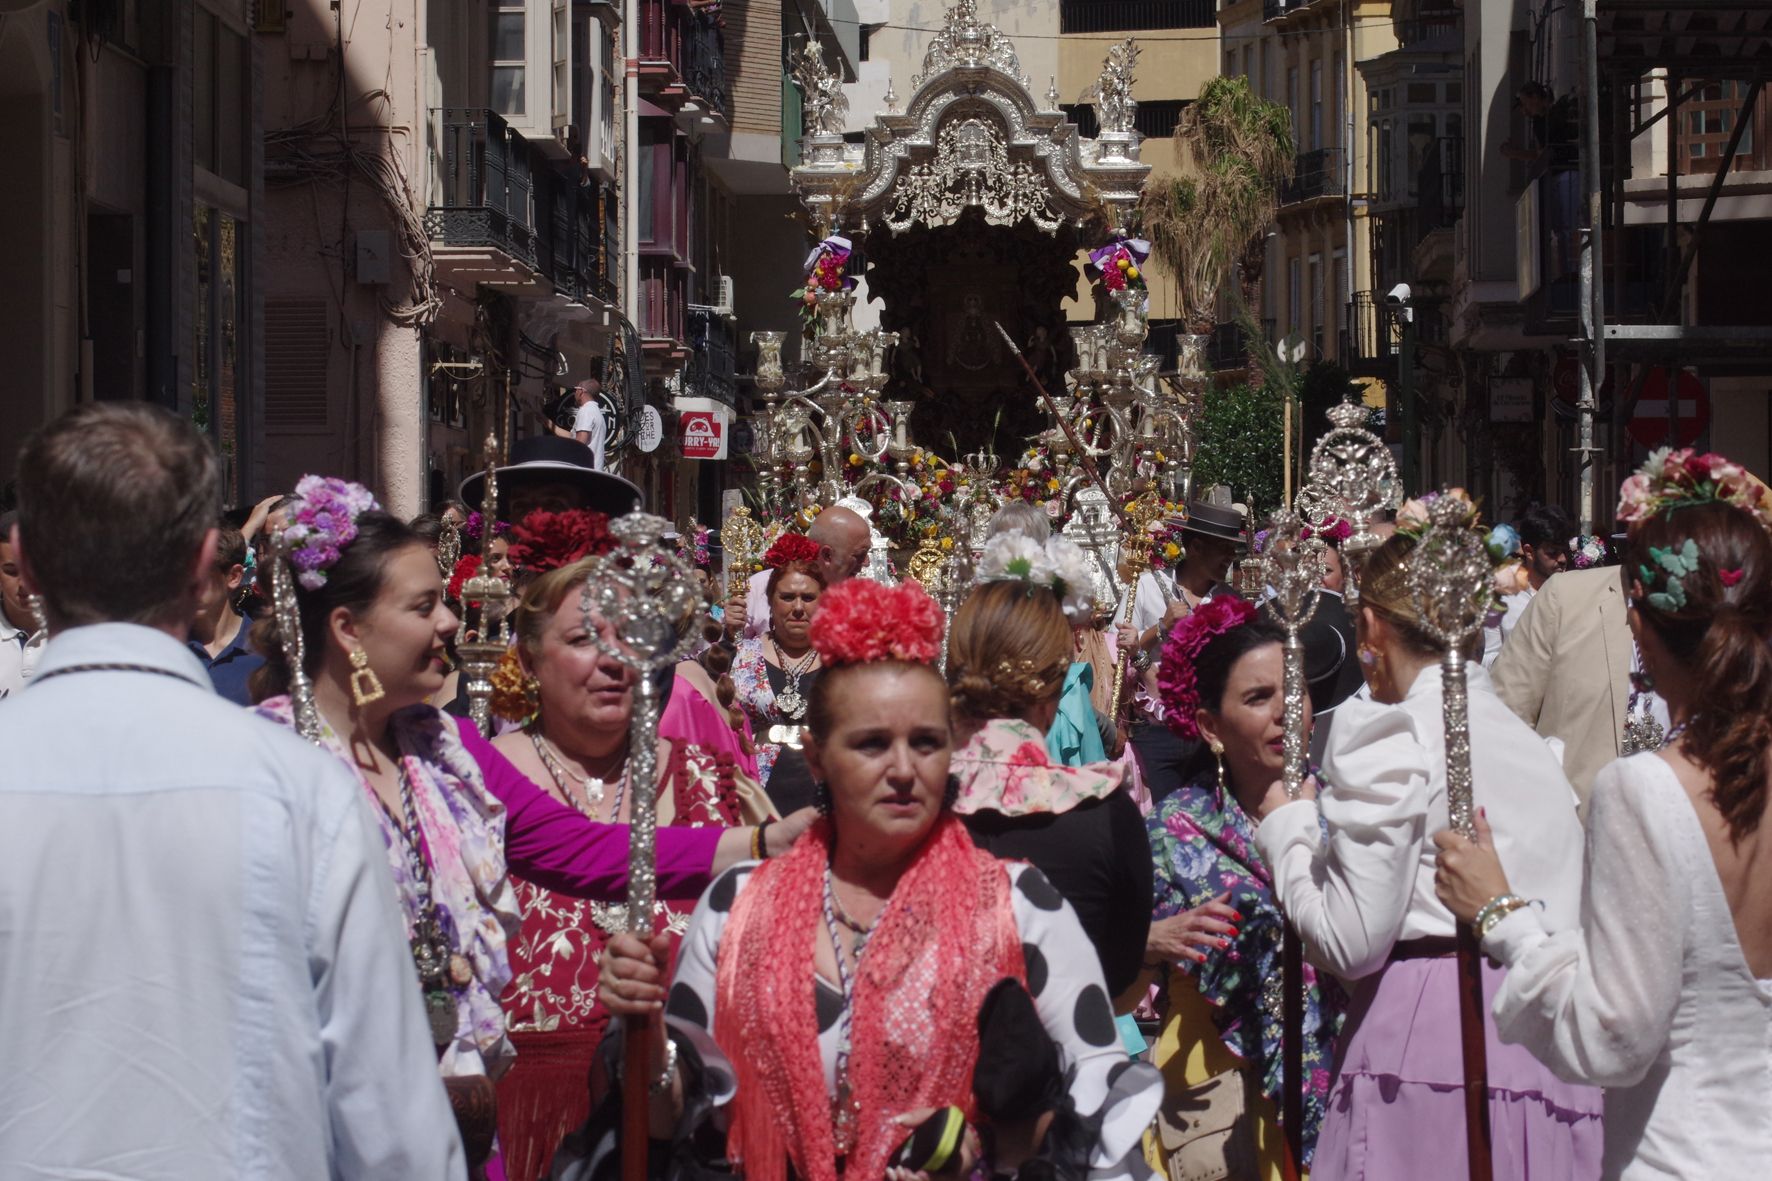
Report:
<svg viewBox="0 0 1772 1181"><path fill-rule="evenodd" d="M539 887L601 903L627 901L627 825L602 825L537 787L471 723L461 727L486 789L505 805L505 864ZM700 897L725 828L657 830L659 897Z"/></svg>

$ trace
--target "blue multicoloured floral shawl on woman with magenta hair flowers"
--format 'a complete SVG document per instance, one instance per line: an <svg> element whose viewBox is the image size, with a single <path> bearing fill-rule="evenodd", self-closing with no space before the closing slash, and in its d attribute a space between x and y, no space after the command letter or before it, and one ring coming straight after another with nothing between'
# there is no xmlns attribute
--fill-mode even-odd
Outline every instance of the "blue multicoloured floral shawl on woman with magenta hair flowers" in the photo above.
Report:
<svg viewBox="0 0 1772 1181"><path fill-rule="evenodd" d="M1210 777L1171 793L1145 821L1157 862L1157 919L1193 910L1219 894L1242 915L1228 949L1205 963L1177 963L1214 1009L1219 1037L1256 1069L1262 1094L1281 1094L1281 938L1285 919L1272 878L1255 846L1255 821ZM1322 1126L1324 1099L1334 1080L1334 1039L1347 998L1334 979L1304 965L1304 1158Z"/></svg>

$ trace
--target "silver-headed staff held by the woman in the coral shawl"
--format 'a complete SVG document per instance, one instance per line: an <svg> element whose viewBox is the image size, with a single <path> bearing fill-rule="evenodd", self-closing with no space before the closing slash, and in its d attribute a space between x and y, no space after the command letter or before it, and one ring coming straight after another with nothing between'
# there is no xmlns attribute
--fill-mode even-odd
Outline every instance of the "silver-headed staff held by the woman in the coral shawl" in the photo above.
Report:
<svg viewBox="0 0 1772 1181"><path fill-rule="evenodd" d="M664 539L672 528L659 516L634 512L610 525L620 548L604 555L585 578L579 606L585 631L610 658L634 670L634 713L629 720L627 931L650 940L657 926L657 745L656 674L673 669L695 645L702 608L695 569ZM647 1087L652 1060L650 1027L629 1018L622 1059L622 1177L647 1176ZM670 1046L666 1046L670 1055ZM666 1057L670 1060L670 1057Z"/></svg>

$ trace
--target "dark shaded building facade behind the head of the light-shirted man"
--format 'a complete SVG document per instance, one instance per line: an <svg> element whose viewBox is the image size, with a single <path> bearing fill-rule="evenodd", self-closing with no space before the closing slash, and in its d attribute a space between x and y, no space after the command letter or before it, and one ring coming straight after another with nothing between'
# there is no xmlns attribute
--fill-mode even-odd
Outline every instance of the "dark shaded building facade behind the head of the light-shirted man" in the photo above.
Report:
<svg viewBox="0 0 1772 1181"><path fill-rule="evenodd" d="M0 500L76 403L190 417L239 502L264 463L262 82L245 0L0 2Z"/></svg>

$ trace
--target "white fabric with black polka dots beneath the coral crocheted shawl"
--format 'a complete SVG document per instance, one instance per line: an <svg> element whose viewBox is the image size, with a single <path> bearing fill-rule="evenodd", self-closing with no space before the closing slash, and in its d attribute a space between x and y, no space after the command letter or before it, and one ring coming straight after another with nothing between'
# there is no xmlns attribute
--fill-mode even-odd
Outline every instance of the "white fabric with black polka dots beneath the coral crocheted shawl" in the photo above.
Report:
<svg viewBox="0 0 1772 1181"><path fill-rule="evenodd" d="M732 903L757 862L734 865L702 896L677 954L664 1014L673 1025L714 1027L714 961ZM1102 982L1095 947L1070 904L1038 869L1005 862L1021 950L1028 965L1028 993L1040 1023L1058 1046L1070 1101L1084 1117L1100 1119L1100 1142L1090 1158L1092 1181L1145 1181L1152 1176L1141 1138L1162 1101L1162 1076L1132 1062L1120 1046L1113 1004ZM819 1014L819 1055L824 1083L836 1087L836 1039L842 989L824 977L812 981Z"/></svg>

